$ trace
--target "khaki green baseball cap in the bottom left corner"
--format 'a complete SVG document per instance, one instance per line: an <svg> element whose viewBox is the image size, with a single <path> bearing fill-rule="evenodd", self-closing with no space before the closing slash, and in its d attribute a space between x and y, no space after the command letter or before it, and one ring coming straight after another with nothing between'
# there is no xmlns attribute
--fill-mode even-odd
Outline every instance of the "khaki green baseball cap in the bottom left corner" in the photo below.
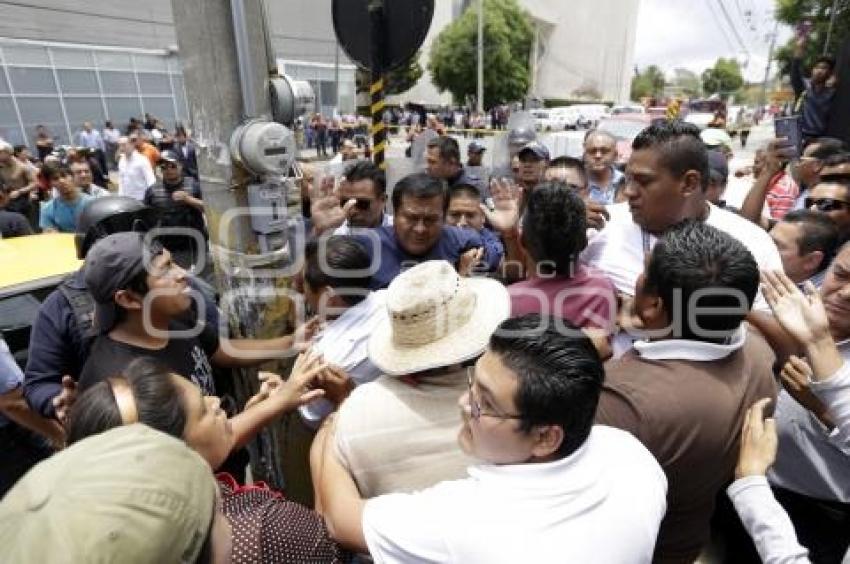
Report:
<svg viewBox="0 0 850 564"><path fill-rule="evenodd" d="M186 444L142 424L33 467L0 504L3 561L195 562L217 485Z"/></svg>

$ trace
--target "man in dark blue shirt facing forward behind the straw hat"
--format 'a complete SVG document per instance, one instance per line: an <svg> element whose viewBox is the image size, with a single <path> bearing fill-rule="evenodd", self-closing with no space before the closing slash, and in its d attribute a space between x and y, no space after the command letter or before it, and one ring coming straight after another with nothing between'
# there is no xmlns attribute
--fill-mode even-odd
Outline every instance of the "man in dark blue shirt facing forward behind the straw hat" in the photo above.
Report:
<svg viewBox="0 0 850 564"><path fill-rule="evenodd" d="M458 266L465 253L470 260L483 260L488 270L499 266L502 254L485 247L478 232L445 224L445 181L410 174L396 184L392 202L394 224L361 235L377 268L372 275L373 289L386 288L402 270L427 260L446 260Z"/></svg>

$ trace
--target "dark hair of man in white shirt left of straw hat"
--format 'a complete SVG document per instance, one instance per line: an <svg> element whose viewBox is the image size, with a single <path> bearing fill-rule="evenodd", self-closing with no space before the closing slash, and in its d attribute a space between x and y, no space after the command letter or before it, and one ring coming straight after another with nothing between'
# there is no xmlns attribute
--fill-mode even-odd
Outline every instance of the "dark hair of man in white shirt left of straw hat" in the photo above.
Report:
<svg viewBox="0 0 850 564"><path fill-rule="evenodd" d="M320 249L324 249L324 260L320 260ZM304 280L311 288L350 288L354 292L339 294L350 306L359 304L366 297L371 276L364 276L362 273L368 272L371 259L356 238L350 235L334 235L310 241L304 251L304 259ZM326 272L323 267L329 267L329 271Z"/></svg>

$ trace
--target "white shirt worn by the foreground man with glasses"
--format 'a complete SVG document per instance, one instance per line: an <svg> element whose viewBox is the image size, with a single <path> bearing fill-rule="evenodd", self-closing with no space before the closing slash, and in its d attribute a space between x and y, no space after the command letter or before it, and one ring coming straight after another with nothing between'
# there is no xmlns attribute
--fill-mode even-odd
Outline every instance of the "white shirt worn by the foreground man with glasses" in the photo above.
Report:
<svg viewBox="0 0 850 564"><path fill-rule="evenodd" d="M572 455L471 466L469 477L369 499L377 563L650 562L667 479L631 434L597 425Z"/></svg>

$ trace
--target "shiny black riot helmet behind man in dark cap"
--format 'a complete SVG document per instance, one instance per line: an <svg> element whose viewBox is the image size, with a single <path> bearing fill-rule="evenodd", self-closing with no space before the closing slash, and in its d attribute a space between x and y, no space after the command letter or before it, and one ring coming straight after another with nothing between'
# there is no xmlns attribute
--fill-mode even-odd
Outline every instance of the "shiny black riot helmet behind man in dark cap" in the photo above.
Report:
<svg viewBox="0 0 850 564"><path fill-rule="evenodd" d="M156 226L156 211L128 196L104 196L89 201L77 220L74 244L85 259L99 239L123 231L146 232Z"/></svg>

